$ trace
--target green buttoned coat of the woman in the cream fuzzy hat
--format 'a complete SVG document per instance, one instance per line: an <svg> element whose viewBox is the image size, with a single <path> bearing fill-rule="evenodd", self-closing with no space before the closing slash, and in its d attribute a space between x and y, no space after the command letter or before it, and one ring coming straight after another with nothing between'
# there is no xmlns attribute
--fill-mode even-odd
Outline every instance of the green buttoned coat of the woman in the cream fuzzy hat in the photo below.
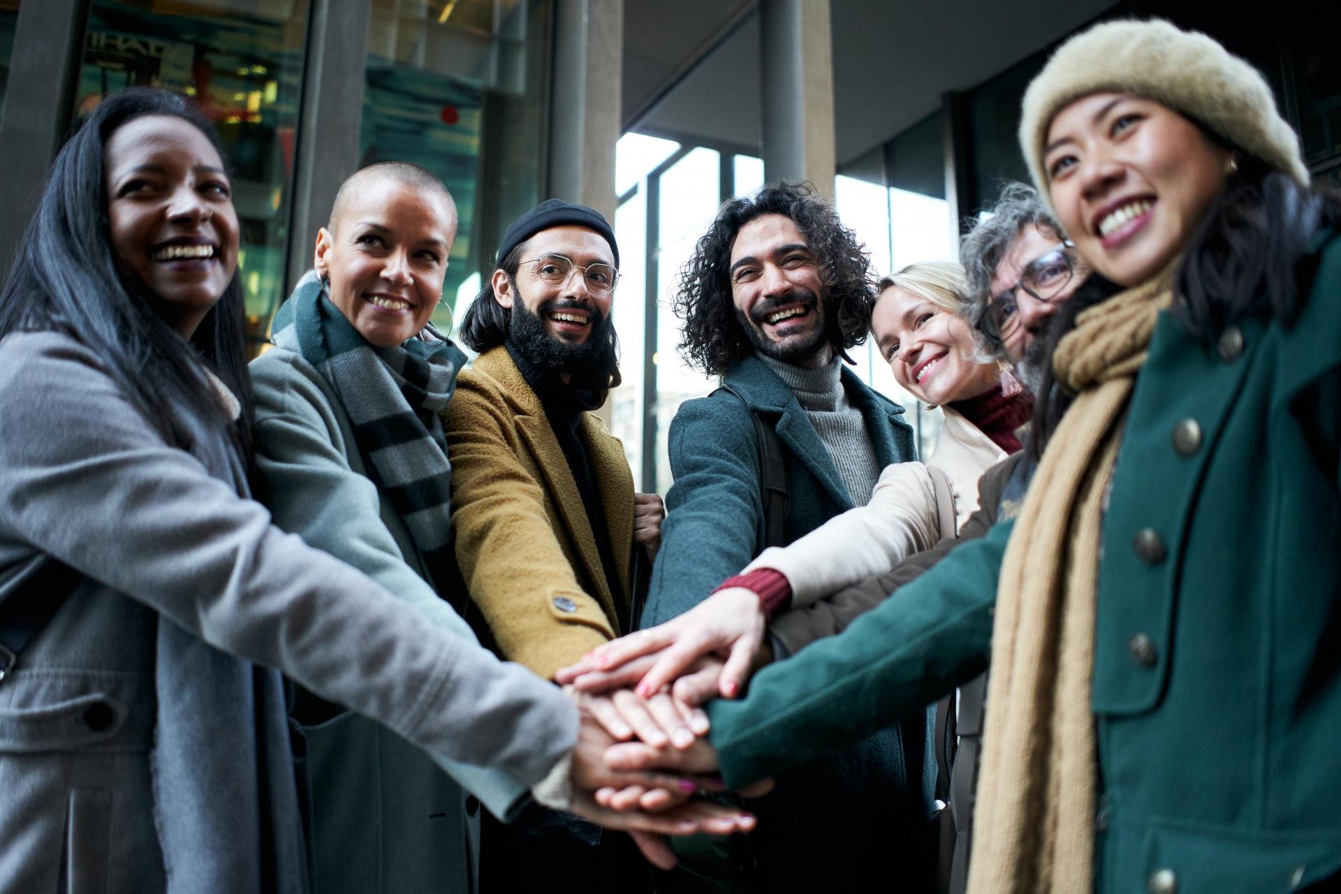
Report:
<svg viewBox="0 0 1341 894"><path fill-rule="evenodd" d="M1180 891L1252 893L1341 871L1341 240L1314 263L1295 324L1240 320L1203 346L1165 314L1137 378L1100 562L1096 891L1160 870ZM982 670L1010 529L713 702L727 781Z"/></svg>

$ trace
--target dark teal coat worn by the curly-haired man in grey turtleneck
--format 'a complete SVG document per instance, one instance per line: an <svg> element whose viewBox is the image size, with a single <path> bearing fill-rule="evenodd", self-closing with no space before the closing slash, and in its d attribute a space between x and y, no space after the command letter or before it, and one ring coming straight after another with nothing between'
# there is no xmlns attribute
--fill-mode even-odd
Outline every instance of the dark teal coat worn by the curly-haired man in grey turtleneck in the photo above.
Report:
<svg viewBox="0 0 1341 894"><path fill-rule="evenodd" d="M724 379L748 406L717 391L681 405L670 424L675 484L666 495L645 625L693 607L764 547L751 409L774 425L786 453L789 541L853 507L829 450L782 379L754 357L736 363ZM902 407L848 370L842 383L865 418L881 466L912 460L912 429L900 418ZM927 869L917 858L924 856L932 781L924 768L933 764L924 756L925 724L905 726L794 768L778 779L768 803L752 807L760 830L756 856L771 874L762 890L858 890L873 873L915 879ZM681 859L692 863L693 854L681 848ZM915 883L909 890L920 889Z"/></svg>

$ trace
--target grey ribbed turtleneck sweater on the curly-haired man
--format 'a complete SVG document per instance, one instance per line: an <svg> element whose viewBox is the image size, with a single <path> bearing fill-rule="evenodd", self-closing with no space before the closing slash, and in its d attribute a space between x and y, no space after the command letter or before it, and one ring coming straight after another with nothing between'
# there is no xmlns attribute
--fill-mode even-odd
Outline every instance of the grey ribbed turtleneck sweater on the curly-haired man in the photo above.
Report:
<svg viewBox="0 0 1341 894"><path fill-rule="evenodd" d="M763 354L756 357L797 397L797 403L815 426L819 440L829 450L829 457L838 468L842 483L848 485L853 505L868 503L870 492L876 489L876 481L880 480L880 458L866 432L865 417L852 405L842 387L839 378L842 359L834 357L818 369L807 369Z"/></svg>

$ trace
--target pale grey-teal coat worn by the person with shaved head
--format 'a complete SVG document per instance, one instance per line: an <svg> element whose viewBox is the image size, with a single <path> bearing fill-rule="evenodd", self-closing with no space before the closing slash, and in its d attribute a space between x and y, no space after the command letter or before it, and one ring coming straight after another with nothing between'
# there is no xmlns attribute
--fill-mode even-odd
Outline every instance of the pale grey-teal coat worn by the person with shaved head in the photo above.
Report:
<svg viewBox="0 0 1341 894"><path fill-rule="evenodd" d="M426 583L409 528L367 477L349 414L320 373L276 347L252 362L251 377L256 466L275 524L413 603L425 623L475 642L469 625ZM483 767L439 764L353 712L294 726L306 751L315 891L476 890L475 796L511 819L527 795L524 783Z"/></svg>

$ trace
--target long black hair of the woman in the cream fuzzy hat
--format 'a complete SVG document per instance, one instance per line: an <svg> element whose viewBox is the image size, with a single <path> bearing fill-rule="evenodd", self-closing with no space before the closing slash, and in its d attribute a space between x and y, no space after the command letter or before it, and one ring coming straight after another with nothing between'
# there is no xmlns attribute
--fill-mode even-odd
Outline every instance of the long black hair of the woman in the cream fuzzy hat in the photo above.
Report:
<svg viewBox="0 0 1341 894"><path fill-rule="evenodd" d="M1330 185L1305 188L1242 151L1235 157L1238 174L1207 206L1173 279L1177 299L1172 312L1207 346L1231 323L1248 316L1291 323L1307 298L1301 288L1299 261L1320 227L1341 224L1341 190ZM1120 291L1090 273L1053 316L1046 357L1075 327L1081 311ZM1035 458L1075 399L1057 383L1051 363L1045 365L1038 393L1030 440Z"/></svg>

